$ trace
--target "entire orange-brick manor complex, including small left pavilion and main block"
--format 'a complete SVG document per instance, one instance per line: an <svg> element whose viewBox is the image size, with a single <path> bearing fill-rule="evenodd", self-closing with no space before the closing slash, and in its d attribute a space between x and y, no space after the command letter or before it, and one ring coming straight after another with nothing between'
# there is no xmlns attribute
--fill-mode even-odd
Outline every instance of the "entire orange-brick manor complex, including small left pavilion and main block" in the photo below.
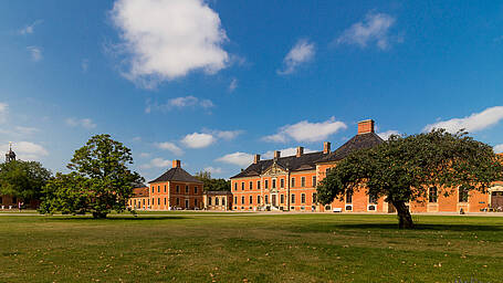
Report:
<svg viewBox="0 0 503 283"><path fill-rule="evenodd" d="M181 169L180 161L159 178L135 189L128 205L135 209L207 209L234 211L338 211L338 212L395 212L384 198L373 198L366 191L355 191L344 200L327 206L316 201L316 185L331 168L354 150L371 148L384 140L375 133L371 119L358 123L357 134L339 148L332 150L331 143L323 143L323 150L304 153L297 147L296 155L281 156L274 151L272 159L253 163L230 178L231 191L203 192L202 182ZM449 197L429 188L428 198L409 203L411 212L467 212L503 209L503 181L495 182L489 193L463 191L454 188Z"/></svg>

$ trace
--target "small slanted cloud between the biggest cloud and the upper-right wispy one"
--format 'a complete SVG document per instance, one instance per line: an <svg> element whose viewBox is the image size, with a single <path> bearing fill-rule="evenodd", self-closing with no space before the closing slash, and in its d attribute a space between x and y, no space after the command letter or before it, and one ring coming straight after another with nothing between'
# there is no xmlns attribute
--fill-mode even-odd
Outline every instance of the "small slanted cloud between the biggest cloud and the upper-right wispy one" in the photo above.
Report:
<svg viewBox="0 0 503 283"><path fill-rule="evenodd" d="M315 54L314 43L310 43L307 40L298 40L297 43L290 50L283 60L282 70L277 70L277 74L287 75L295 72L296 67L302 63L310 62L313 60Z"/></svg>

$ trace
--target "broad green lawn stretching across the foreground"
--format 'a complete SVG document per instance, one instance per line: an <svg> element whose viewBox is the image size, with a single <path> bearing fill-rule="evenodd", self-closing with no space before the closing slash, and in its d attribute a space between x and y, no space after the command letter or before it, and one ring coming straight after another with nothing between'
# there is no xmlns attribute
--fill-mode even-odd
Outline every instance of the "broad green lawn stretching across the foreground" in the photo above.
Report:
<svg viewBox="0 0 503 283"><path fill-rule="evenodd" d="M503 218L0 216L0 282L503 281Z"/></svg>

